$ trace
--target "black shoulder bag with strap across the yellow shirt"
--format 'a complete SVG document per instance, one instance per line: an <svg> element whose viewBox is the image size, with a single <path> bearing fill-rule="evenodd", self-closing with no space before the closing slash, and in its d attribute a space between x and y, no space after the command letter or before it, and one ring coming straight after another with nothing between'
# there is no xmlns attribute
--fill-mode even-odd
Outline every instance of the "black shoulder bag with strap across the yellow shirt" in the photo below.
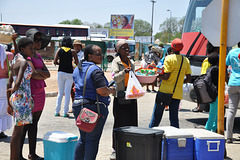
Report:
<svg viewBox="0 0 240 160"><path fill-rule="evenodd" d="M182 57L182 62L181 62L181 65L180 65L180 69L178 71L177 80L176 80L176 83L175 83L174 88L173 88L173 93L171 94L171 93L158 92L157 96L156 96L156 103L157 104L160 104L161 106L169 106L170 105L170 103L172 101L172 96L173 96L173 94L175 92L175 89L176 89L176 86L177 86L180 71L182 69L182 64L183 64L183 57Z"/></svg>

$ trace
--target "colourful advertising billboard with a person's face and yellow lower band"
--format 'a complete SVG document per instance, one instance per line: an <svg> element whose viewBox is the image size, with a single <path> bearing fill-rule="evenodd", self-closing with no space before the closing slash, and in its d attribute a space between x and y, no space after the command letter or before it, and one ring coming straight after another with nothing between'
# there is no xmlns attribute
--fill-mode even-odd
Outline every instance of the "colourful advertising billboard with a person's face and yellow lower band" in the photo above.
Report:
<svg viewBox="0 0 240 160"><path fill-rule="evenodd" d="M133 39L134 15L111 15L110 38Z"/></svg>

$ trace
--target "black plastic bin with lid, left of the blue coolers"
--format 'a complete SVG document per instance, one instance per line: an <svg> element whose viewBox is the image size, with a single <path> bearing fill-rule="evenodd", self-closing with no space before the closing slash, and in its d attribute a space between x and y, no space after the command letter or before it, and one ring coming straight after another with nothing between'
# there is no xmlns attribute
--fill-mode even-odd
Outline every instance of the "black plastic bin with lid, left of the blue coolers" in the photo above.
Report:
<svg viewBox="0 0 240 160"><path fill-rule="evenodd" d="M113 130L117 160L160 160L163 130L120 127Z"/></svg>

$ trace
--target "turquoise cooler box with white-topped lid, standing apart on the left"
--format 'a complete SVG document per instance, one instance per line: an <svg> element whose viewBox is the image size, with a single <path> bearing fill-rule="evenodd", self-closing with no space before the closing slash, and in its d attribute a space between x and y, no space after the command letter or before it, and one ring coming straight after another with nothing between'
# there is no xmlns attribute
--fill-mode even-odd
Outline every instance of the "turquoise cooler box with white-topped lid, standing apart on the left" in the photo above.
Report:
<svg viewBox="0 0 240 160"><path fill-rule="evenodd" d="M48 132L43 137L45 160L73 160L78 136L61 131Z"/></svg>

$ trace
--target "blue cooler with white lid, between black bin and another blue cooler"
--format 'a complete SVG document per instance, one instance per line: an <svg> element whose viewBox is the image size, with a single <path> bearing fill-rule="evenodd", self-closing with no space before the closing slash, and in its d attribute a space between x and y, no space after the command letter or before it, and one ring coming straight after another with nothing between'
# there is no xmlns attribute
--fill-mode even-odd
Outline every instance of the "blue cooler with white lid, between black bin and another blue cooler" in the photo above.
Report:
<svg viewBox="0 0 240 160"><path fill-rule="evenodd" d="M154 127L164 131L164 160L193 160L193 134L171 126Z"/></svg>

